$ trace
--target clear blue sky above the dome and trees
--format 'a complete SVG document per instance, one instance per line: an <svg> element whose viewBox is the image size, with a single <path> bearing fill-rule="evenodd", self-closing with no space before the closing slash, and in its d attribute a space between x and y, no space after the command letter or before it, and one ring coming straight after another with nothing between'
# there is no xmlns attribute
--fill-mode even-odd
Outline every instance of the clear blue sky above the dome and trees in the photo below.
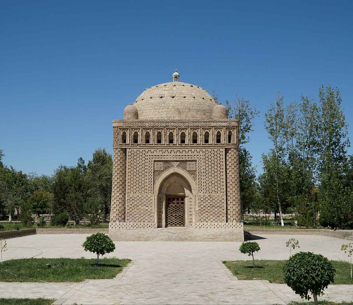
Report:
<svg viewBox="0 0 353 305"><path fill-rule="evenodd" d="M261 112L248 145L259 172L264 113L320 85L353 117L352 1L1 1L0 148L6 165L52 175L112 153L112 120L171 80L238 94ZM349 126L353 135L353 125ZM353 153L349 148L349 153Z"/></svg>

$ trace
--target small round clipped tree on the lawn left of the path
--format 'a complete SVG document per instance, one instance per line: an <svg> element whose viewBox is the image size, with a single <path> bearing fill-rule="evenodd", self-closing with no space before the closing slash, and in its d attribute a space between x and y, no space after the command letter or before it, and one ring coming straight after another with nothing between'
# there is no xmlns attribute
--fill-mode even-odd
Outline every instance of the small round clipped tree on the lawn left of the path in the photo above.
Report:
<svg viewBox="0 0 353 305"><path fill-rule="evenodd" d="M99 263L99 255L113 252L115 244L108 235L104 233L96 233L86 237L86 241L82 244L85 251L97 254L97 265Z"/></svg>

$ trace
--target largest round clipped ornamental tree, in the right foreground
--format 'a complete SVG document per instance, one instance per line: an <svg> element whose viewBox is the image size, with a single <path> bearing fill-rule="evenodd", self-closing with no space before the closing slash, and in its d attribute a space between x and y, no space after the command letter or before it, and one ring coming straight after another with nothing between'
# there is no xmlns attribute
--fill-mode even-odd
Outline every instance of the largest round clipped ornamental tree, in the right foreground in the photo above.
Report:
<svg viewBox="0 0 353 305"><path fill-rule="evenodd" d="M312 252L294 254L283 267L283 281L301 298L310 300L309 293L314 296L322 295L324 288L334 282L336 269L327 257Z"/></svg>

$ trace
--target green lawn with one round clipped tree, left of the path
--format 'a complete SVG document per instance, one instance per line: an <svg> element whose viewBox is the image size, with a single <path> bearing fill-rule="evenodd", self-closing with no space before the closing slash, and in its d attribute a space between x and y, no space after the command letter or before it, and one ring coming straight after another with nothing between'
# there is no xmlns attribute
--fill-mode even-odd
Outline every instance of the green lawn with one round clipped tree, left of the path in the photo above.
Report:
<svg viewBox="0 0 353 305"><path fill-rule="evenodd" d="M5 261L0 282L81 282L85 279L113 279L131 260L100 258L22 258ZM48 268L47 264L52 267Z"/></svg>

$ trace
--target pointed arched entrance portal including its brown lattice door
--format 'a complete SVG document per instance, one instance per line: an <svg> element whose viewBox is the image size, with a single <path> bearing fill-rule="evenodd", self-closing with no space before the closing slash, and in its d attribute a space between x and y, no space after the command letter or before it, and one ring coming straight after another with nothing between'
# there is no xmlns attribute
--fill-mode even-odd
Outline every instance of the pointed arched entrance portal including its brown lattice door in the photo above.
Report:
<svg viewBox="0 0 353 305"><path fill-rule="evenodd" d="M154 187L157 226L184 227L195 222L196 193L195 182L184 170L164 172Z"/></svg>

